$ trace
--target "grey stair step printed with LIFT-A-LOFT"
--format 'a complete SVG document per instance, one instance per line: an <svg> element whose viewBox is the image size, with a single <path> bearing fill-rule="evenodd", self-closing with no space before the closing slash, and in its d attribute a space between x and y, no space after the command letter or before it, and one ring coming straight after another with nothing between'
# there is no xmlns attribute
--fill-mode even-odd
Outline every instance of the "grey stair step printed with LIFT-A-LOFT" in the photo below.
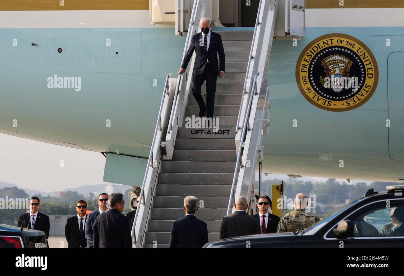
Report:
<svg viewBox="0 0 404 276"><path fill-rule="evenodd" d="M189 105L188 105L189 106ZM187 106L187 107L188 107ZM198 107L199 108L199 107ZM236 137L235 127L219 127L217 132L214 129L188 129L179 127L177 138L214 138L214 139L234 139Z"/></svg>

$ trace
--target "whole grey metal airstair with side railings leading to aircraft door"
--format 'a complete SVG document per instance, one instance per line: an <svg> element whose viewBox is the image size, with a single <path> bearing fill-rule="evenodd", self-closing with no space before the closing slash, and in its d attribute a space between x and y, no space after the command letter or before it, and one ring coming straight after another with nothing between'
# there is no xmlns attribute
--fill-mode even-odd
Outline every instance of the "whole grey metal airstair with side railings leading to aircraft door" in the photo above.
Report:
<svg viewBox="0 0 404 276"><path fill-rule="evenodd" d="M195 0L184 55L212 2ZM219 240L222 217L235 211L235 198L254 195L261 139L269 128L266 69L277 4L260 1L254 31L214 31L221 35L226 57L226 72L216 86L217 131L185 125L193 116L199 118L191 94L195 54L182 75L167 75L132 227L135 248L168 248L173 221L184 216L185 196L198 198L196 216L207 223L209 241L214 241ZM202 96L206 102L205 84Z"/></svg>

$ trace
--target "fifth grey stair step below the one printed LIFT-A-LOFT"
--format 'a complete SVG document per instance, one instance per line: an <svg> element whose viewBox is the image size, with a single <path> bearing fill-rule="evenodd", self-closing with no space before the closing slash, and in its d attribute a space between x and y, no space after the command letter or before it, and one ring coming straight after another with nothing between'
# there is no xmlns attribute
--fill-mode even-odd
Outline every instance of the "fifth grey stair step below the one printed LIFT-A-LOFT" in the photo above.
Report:
<svg viewBox="0 0 404 276"><path fill-rule="evenodd" d="M156 185L156 196L229 196L230 191L231 185Z"/></svg>

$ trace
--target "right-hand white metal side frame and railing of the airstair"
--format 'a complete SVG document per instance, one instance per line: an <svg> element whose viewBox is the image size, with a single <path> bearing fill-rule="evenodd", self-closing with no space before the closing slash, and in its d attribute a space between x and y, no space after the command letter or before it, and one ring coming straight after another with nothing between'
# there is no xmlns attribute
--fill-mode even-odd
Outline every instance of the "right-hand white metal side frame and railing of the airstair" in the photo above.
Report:
<svg viewBox="0 0 404 276"><path fill-rule="evenodd" d="M250 198L255 183L255 165L258 160L258 150L261 149L262 145L262 135L268 135L269 91L266 75L274 38L278 1L261 0L259 4L248 72L246 72L244 84L245 90L240 103L238 124L236 125L236 149L241 149L240 143L243 145L240 162L236 164L236 166L240 165L240 172L238 179L236 179L235 174L235 180L232 183L227 214L230 213L231 206L233 206L231 213L236 211L234 202L238 196ZM249 105L251 105L250 108ZM246 122L248 122L247 126L244 125ZM243 135L244 133L245 135ZM247 160L249 166L246 166ZM237 188L234 191L235 185Z"/></svg>

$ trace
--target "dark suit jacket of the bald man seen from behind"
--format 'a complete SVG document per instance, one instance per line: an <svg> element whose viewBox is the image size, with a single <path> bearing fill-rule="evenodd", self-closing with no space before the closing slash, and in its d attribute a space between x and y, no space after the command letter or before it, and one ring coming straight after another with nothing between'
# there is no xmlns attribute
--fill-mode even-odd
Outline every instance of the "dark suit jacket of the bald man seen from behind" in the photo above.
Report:
<svg viewBox="0 0 404 276"><path fill-rule="evenodd" d="M223 217L219 238L261 234L259 221L246 212L237 212Z"/></svg>

